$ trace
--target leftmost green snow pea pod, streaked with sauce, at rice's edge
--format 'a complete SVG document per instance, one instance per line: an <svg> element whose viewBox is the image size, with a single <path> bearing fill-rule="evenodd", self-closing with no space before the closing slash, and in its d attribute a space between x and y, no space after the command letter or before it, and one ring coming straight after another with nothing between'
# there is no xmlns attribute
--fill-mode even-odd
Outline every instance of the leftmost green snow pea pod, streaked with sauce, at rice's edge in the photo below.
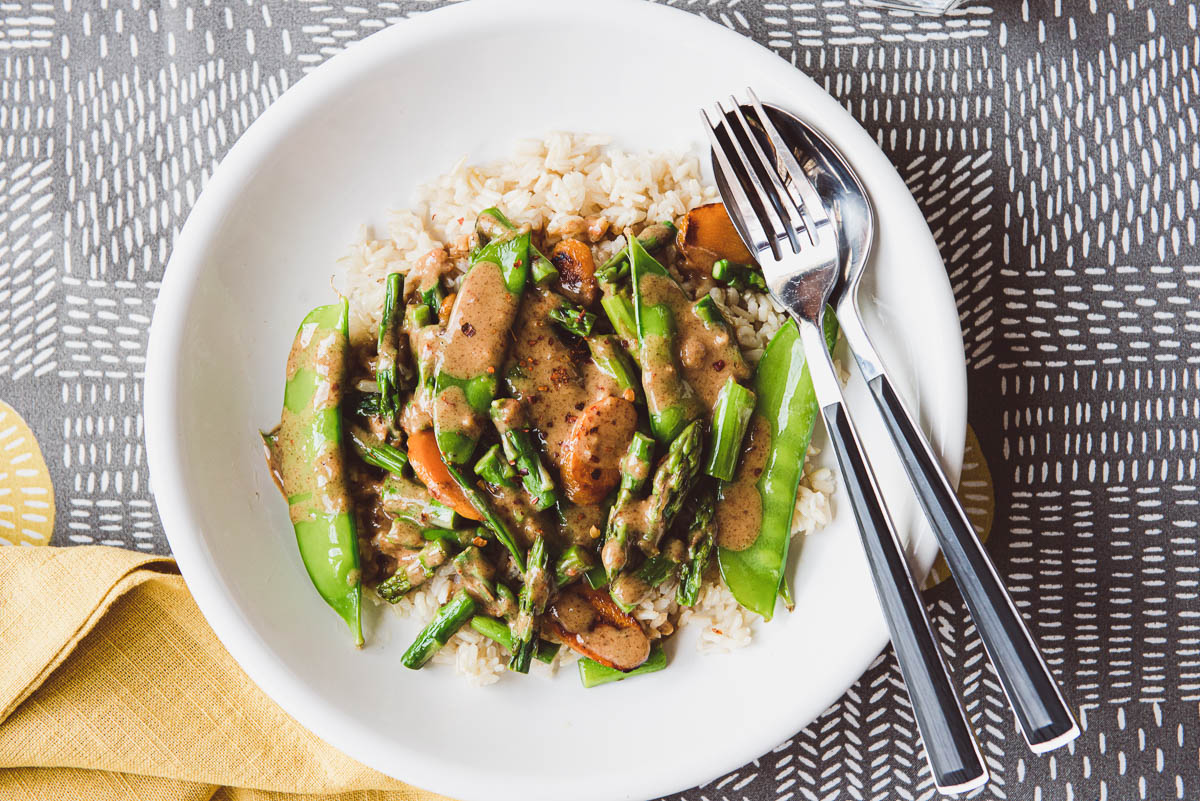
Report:
<svg viewBox="0 0 1200 801"><path fill-rule="evenodd" d="M342 456L349 306L320 306L300 324L274 439L288 513L308 578L362 645L358 531Z"/></svg>

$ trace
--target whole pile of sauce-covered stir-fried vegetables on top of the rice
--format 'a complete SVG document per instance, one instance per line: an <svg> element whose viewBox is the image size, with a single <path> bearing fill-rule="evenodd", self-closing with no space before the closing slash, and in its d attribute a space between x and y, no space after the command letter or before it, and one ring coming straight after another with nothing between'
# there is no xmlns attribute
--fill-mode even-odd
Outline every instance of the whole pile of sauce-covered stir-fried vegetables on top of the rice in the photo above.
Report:
<svg viewBox="0 0 1200 801"><path fill-rule="evenodd" d="M434 251L388 276L367 343L344 300L305 318L264 442L358 640L364 580L397 603L434 576L451 597L408 668L469 625L516 673L562 645L587 687L661 670L636 607L695 606L706 580L770 618L816 417L794 326L755 373L718 300L684 289L697 265L701 287L762 287L719 204L619 235L596 266L487 209L456 270Z"/></svg>

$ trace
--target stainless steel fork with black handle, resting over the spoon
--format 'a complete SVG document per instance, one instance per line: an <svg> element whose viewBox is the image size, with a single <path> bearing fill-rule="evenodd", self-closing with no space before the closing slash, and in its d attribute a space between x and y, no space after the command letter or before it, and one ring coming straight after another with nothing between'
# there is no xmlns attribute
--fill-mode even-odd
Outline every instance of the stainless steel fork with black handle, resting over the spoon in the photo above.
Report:
<svg viewBox="0 0 1200 801"><path fill-rule="evenodd" d="M769 118L752 95L751 101L767 130ZM942 793L972 790L988 781L988 770L824 345L822 318L840 272L835 221L791 153L776 150L774 158L768 157L742 106L732 97L730 104L726 109L718 102L718 124L701 109L721 200L762 266L772 296L799 326L812 389L858 520L934 783Z"/></svg>

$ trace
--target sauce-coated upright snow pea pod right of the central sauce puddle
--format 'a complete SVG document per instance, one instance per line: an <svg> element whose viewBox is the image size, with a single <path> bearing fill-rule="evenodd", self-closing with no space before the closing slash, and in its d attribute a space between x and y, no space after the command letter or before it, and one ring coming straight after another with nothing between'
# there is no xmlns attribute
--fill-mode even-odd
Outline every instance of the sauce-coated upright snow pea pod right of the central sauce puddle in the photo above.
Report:
<svg viewBox="0 0 1200 801"><path fill-rule="evenodd" d="M650 302L652 299L660 299L664 290L679 289L674 278L636 239L629 246L629 264L637 318L638 362L642 366L646 405L650 412L650 430L660 442L671 442L684 426L706 411L696 391L683 378L671 306L662 300Z"/></svg>

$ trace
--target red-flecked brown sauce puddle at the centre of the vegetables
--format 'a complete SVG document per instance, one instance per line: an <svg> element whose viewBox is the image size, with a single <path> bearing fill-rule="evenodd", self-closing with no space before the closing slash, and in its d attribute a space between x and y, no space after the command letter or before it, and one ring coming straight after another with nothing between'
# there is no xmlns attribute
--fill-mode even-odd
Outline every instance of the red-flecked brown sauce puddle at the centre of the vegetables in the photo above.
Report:
<svg viewBox="0 0 1200 801"><path fill-rule="evenodd" d="M540 289L526 290L504 374L545 442L547 466L560 475L563 442L580 412L593 401L617 395L617 383L559 337L548 317L558 302Z"/></svg>

